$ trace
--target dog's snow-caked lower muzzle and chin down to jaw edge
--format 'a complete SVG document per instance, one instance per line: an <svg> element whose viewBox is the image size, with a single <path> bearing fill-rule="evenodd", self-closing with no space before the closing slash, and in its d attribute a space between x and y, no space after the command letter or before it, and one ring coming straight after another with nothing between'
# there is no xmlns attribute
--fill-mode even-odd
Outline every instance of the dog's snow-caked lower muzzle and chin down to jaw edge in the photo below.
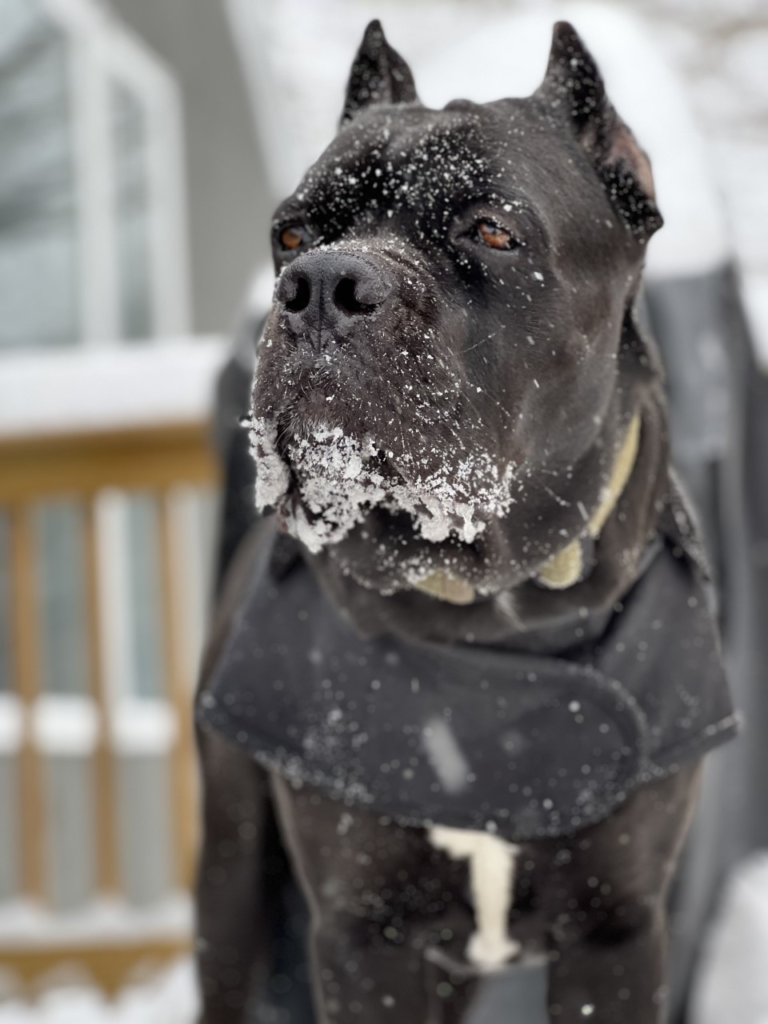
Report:
<svg viewBox="0 0 768 1024"><path fill-rule="evenodd" d="M383 595L435 573L478 595L525 578L503 557L512 463L480 449L452 450L424 430L412 432L420 446L403 451L401 438L343 425L341 404L333 406L309 393L300 408L252 421L257 504L276 511L284 532Z"/></svg>

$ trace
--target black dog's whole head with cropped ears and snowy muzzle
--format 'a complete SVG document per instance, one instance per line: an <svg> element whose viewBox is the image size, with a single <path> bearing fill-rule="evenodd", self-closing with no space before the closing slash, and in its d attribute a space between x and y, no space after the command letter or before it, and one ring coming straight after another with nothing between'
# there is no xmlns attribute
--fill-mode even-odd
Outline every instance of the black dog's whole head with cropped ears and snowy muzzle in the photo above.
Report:
<svg viewBox="0 0 768 1024"><path fill-rule="evenodd" d="M660 223L569 25L532 96L432 111L373 23L339 134L274 217L259 506L383 593L528 579L605 488Z"/></svg>

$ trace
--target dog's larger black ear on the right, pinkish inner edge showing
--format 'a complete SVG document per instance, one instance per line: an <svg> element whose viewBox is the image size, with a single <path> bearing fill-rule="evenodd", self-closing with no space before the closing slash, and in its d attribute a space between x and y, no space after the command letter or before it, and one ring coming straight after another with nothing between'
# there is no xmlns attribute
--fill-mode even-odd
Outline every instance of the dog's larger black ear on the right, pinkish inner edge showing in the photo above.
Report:
<svg viewBox="0 0 768 1024"><path fill-rule="evenodd" d="M555 26L537 96L575 133L632 231L641 241L650 238L664 223L650 161L613 109L592 54L567 22Z"/></svg>

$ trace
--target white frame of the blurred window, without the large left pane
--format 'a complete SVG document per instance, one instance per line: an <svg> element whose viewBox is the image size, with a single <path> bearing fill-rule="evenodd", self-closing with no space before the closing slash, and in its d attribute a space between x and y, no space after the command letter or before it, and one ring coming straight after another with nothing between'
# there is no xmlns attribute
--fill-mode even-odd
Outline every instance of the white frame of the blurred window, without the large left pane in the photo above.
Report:
<svg viewBox="0 0 768 1024"><path fill-rule="evenodd" d="M124 86L141 103L146 182L153 340L189 331L182 103L169 68L95 0L41 0L69 41L80 344L121 344L116 169L110 89Z"/></svg>

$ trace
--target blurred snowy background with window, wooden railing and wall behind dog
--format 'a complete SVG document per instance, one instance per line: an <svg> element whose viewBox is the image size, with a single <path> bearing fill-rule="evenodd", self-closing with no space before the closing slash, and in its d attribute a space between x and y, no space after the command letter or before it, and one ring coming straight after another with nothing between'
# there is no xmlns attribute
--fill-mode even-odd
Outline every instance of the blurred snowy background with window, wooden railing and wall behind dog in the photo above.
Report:
<svg viewBox="0 0 768 1024"><path fill-rule="evenodd" d="M645 315L748 725L675 895L674 1012L765 1024L766 0L0 0L0 1024L195 1018L191 695L245 411L217 381L375 16L431 105L532 91L567 16L650 154Z"/></svg>

